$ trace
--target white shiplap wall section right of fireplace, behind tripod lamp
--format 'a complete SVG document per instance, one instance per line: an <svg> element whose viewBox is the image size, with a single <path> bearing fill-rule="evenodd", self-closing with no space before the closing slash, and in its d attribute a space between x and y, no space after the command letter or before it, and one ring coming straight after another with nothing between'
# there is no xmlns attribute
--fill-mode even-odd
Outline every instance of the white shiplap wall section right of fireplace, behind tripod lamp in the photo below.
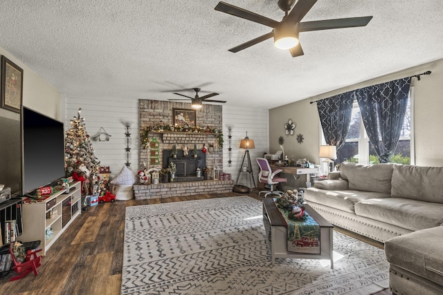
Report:
<svg viewBox="0 0 443 295"><path fill-rule="evenodd" d="M232 133L232 166L228 166L228 128L226 124L234 125ZM233 180L237 180L237 175L240 174L238 184L251 187L251 181L247 177L248 173L239 173L240 166L244 157L245 150L240 149L240 140L246 137L254 140L255 149L249 150L251 157L251 164L253 166L253 174L255 184L257 185L257 175L260 169L258 168L257 157L263 157L264 153L268 152L269 146L269 111L267 109L255 108L237 108L233 106L223 106L223 171L231 173ZM245 159L245 161L247 161ZM246 162L245 162L246 163ZM253 186L253 185L252 185Z"/></svg>

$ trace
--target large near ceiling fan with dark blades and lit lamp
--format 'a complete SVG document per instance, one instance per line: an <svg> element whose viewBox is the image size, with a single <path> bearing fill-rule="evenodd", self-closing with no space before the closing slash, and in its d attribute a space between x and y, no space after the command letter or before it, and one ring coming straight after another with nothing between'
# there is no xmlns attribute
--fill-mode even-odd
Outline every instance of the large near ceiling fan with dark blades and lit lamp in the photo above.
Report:
<svg viewBox="0 0 443 295"><path fill-rule="evenodd" d="M215 6L215 10L248 19L261 23L264 26L269 26L273 30L265 35L247 41L244 44L230 48L229 51L237 53L240 50L253 46L266 39L274 37L274 45L280 49L289 49L292 57L304 55L302 46L298 39L299 32L309 32L313 30L329 30L334 28L351 28L366 26L372 19L370 17L350 17L345 19L325 19L323 21L305 21L300 22L307 12L314 6L317 0L278 0L278 7L284 11L282 21L274 21L262 15L257 15L254 12L244 10L237 6L230 5L225 2L219 2ZM292 8L293 4L296 5ZM289 10L291 10L289 12Z"/></svg>

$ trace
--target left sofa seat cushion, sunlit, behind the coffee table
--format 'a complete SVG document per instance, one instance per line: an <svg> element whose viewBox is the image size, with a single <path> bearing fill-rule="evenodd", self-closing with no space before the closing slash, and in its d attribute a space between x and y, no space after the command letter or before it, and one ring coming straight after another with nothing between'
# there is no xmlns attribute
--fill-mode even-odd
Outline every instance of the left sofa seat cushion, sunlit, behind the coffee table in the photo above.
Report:
<svg viewBox="0 0 443 295"><path fill-rule="evenodd" d="M372 191L326 191L323 189L309 188L305 191L305 200L323 204L338 210L354 213L354 204L372 198L389 198L387 193L374 193Z"/></svg>

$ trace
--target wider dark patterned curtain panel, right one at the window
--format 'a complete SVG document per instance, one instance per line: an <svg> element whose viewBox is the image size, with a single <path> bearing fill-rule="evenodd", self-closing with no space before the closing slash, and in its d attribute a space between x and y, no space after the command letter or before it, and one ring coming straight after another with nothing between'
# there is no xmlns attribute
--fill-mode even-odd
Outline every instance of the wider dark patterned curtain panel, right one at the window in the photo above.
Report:
<svg viewBox="0 0 443 295"><path fill-rule="evenodd" d="M397 148L408 104L411 77L355 91L369 141L380 163L390 161Z"/></svg>

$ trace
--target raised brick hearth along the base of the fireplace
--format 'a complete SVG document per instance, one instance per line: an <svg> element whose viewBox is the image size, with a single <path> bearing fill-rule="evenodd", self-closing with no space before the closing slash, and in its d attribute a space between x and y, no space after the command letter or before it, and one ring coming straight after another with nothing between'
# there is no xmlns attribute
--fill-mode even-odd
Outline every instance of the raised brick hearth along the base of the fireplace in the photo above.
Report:
<svg viewBox="0 0 443 295"><path fill-rule="evenodd" d="M136 200L193 196L201 193L229 193L233 180L204 180L197 182L168 182L160 184L134 184Z"/></svg>

